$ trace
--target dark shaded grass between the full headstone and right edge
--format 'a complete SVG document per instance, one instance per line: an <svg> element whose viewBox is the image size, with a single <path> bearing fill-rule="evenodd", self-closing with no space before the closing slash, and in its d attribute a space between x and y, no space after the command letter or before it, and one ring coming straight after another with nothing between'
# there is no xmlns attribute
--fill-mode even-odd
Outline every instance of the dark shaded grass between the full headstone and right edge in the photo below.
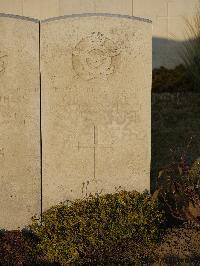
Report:
<svg viewBox="0 0 200 266"><path fill-rule="evenodd" d="M172 161L170 149L181 150L193 137L189 161L200 157L200 93L152 94L151 187L159 170Z"/></svg>

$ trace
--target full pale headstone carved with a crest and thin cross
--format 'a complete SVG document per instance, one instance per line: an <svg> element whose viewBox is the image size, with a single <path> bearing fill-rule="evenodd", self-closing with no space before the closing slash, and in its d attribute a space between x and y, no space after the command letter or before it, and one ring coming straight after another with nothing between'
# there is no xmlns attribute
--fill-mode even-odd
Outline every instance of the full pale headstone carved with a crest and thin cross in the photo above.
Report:
<svg viewBox="0 0 200 266"><path fill-rule="evenodd" d="M125 16L41 24L43 206L150 186L152 26Z"/></svg>

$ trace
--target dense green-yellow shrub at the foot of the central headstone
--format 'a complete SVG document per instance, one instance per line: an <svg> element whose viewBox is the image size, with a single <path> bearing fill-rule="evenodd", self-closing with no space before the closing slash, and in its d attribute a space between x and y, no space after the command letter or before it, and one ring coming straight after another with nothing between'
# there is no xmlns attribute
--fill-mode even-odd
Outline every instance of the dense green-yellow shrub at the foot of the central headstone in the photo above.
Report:
<svg viewBox="0 0 200 266"><path fill-rule="evenodd" d="M148 192L121 191L60 204L33 219L38 250L68 263L134 263L153 258L164 214Z"/></svg>

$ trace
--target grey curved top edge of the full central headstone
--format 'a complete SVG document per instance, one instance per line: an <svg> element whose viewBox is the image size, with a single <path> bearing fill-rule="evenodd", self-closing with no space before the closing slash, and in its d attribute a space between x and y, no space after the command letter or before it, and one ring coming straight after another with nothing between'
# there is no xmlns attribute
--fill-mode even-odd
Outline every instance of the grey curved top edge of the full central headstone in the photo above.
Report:
<svg viewBox="0 0 200 266"><path fill-rule="evenodd" d="M116 17L116 18L126 18L132 20L139 20L147 23L152 23L151 20L141 17L129 16L129 15L120 15L120 14L110 14L110 13L83 13L83 14L72 14L72 15L64 15L59 17L52 17L41 20L41 22L49 22L55 21L60 19L67 19L67 18L75 18L75 17Z"/></svg>

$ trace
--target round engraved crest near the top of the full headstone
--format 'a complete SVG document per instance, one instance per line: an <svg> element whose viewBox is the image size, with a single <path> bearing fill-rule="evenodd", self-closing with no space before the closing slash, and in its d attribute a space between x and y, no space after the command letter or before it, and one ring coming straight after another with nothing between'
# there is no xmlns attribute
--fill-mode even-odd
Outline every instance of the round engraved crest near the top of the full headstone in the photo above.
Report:
<svg viewBox="0 0 200 266"><path fill-rule="evenodd" d="M82 39L72 52L75 72L85 80L107 79L114 73L114 58L120 54L117 45L100 32Z"/></svg>

